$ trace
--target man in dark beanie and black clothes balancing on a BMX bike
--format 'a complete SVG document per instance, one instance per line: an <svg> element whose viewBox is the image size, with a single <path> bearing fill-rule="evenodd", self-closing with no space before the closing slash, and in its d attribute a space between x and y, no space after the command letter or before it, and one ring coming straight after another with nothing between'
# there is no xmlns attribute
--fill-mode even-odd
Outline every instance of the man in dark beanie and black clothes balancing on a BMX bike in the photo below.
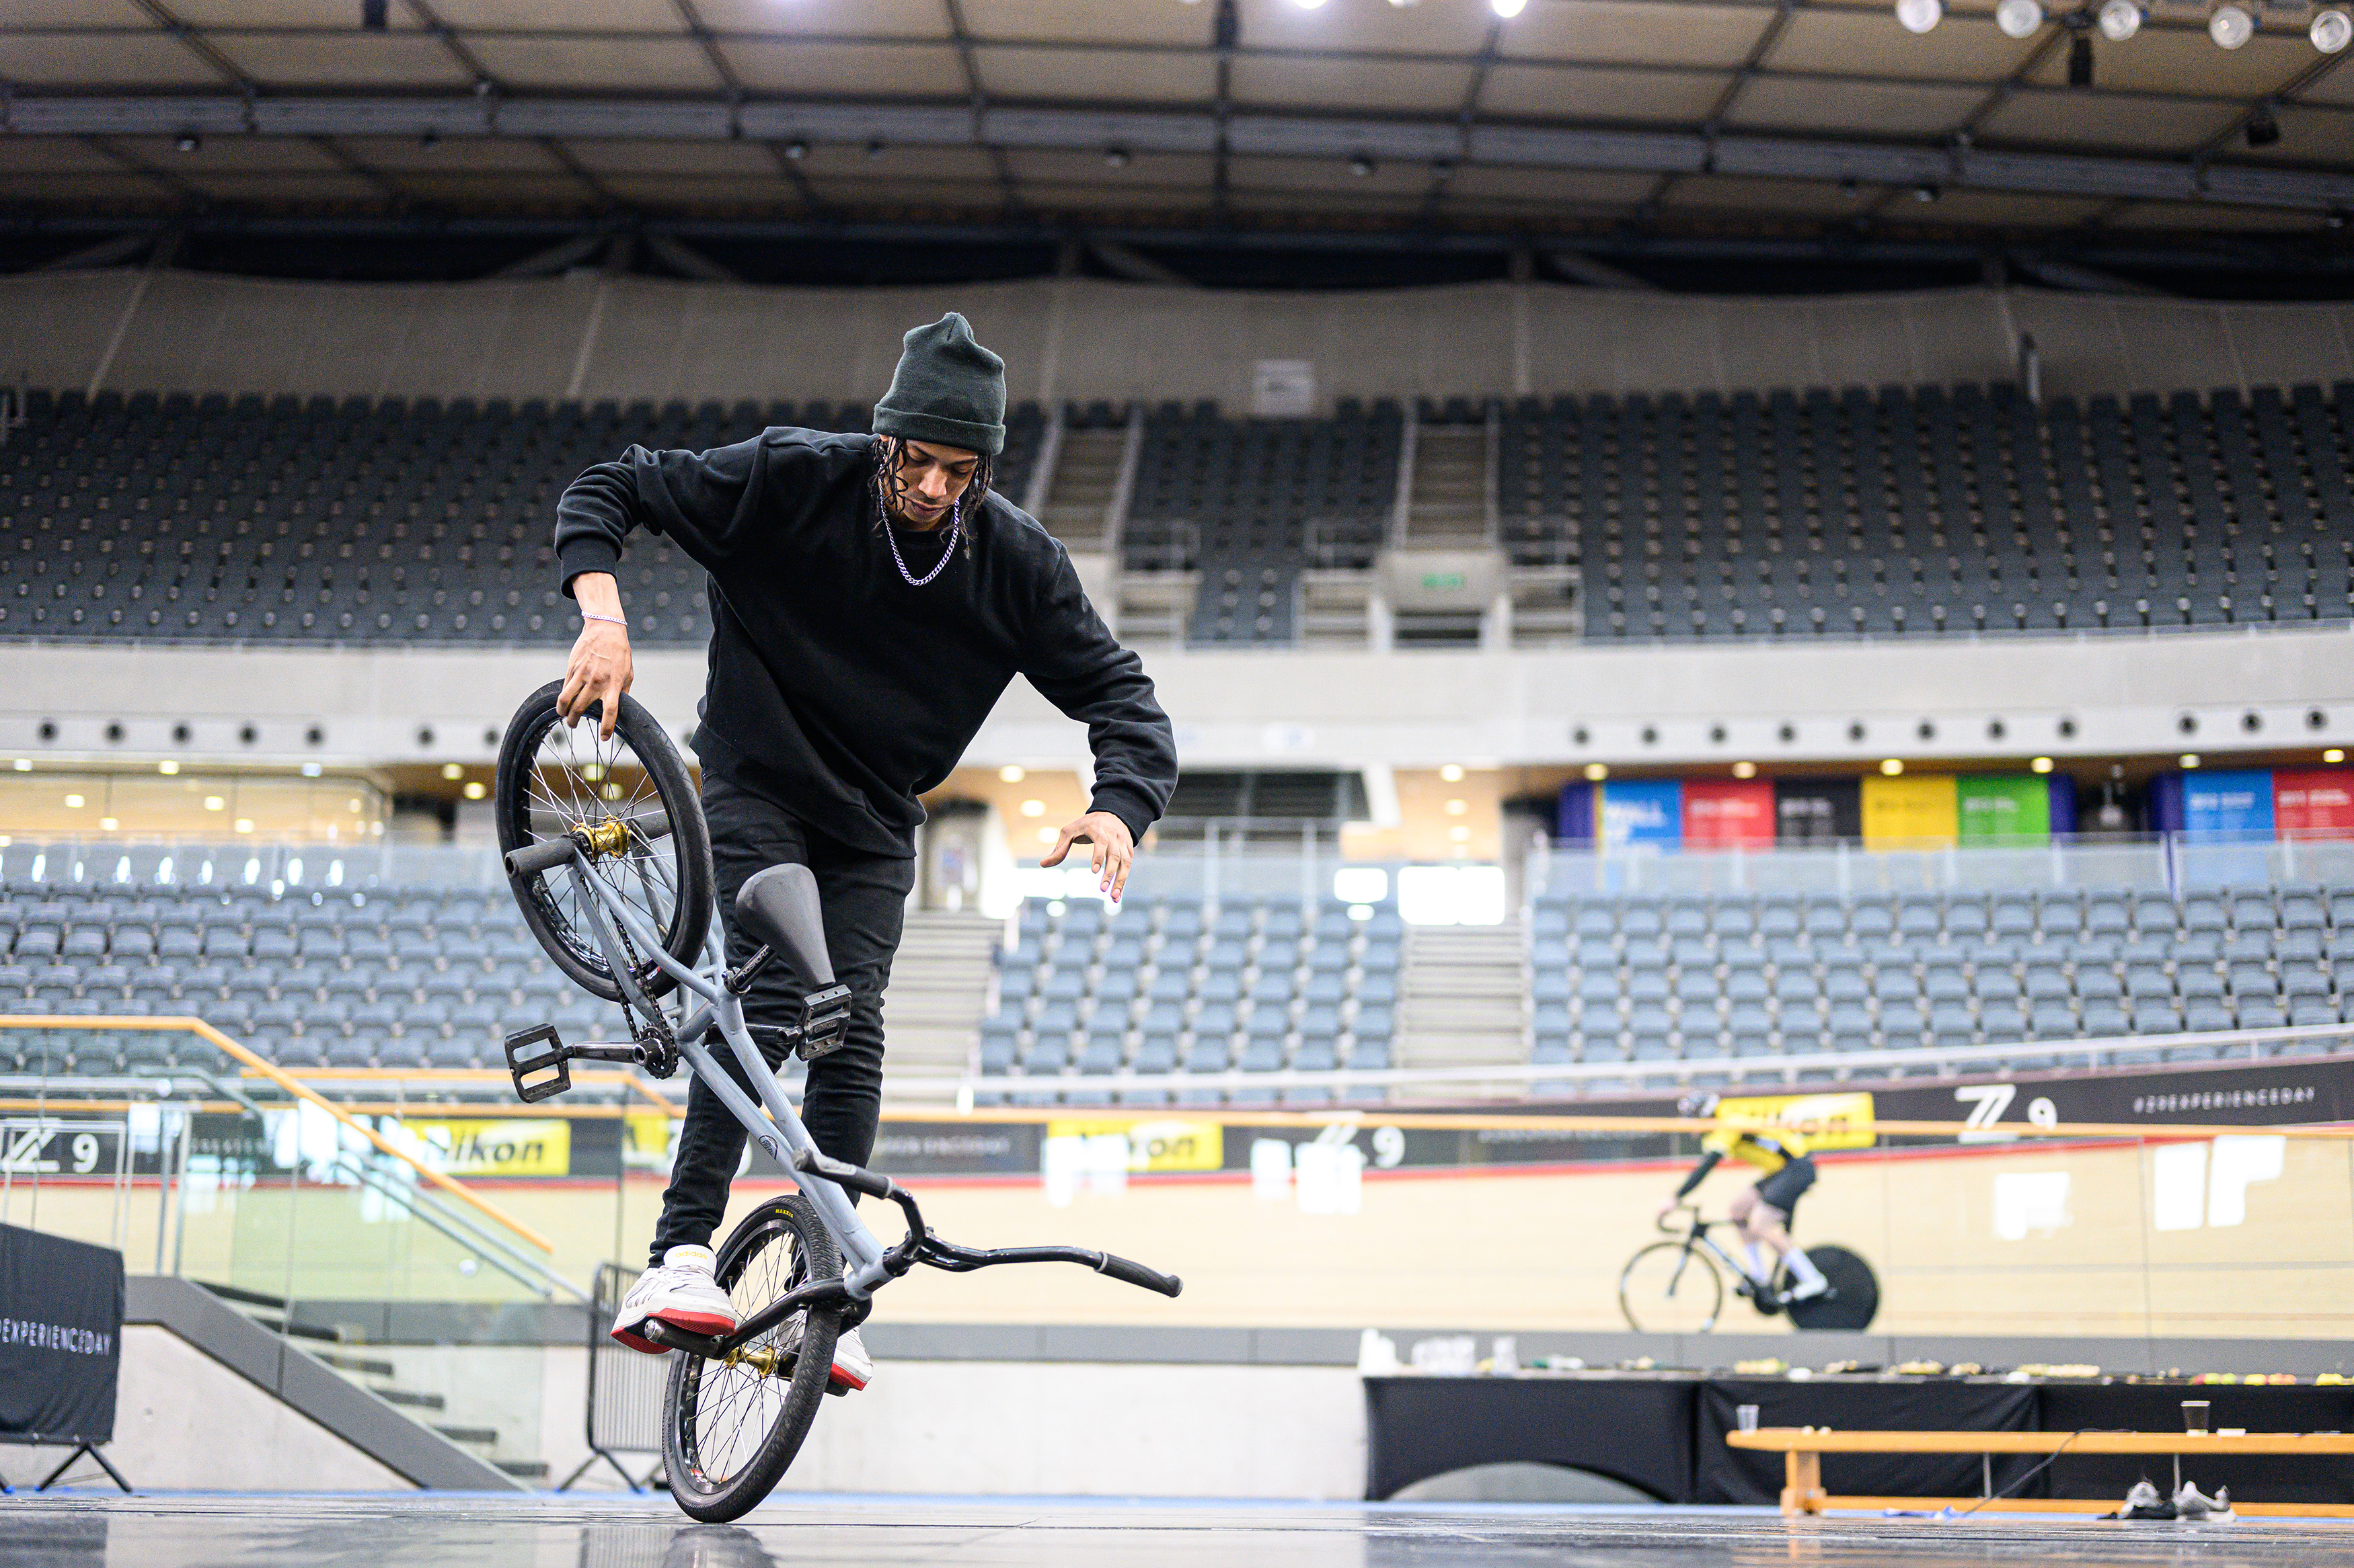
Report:
<svg viewBox="0 0 2354 1568"><path fill-rule="evenodd" d="M883 987L916 886L916 797L949 776L1012 677L1083 722L1095 750L1095 799L1043 865L1085 839L1097 882L1118 898L1137 839L1177 785L1170 722L1137 656L1088 604L1064 548L991 489L1003 449L1005 362L949 313L906 334L873 435L772 428L713 451L631 447L556 505L556 557L581 609L560 696L567 719L603 703L610 733L629 691L612 569L631 529L669 536L711 574L694 750L727 959L742 964L758 945L734 926L744 879L807 865L852 1011L845 1041L810 1063L800 1114L819 1150L852 1164L866 1164L883 1103ZM805 990L770 964L744 1016L791 1023ZM742 1079L732 1053L718 1060ZM619 1342L654 1352L636 1333L650 1316L692 1333L734 1328L709 1244L742 1154L742 1124L697 1081L654 1267L614 1319ZM871 1373L859 1335L845 1333L836 1385L864 1387Z"/></svg>

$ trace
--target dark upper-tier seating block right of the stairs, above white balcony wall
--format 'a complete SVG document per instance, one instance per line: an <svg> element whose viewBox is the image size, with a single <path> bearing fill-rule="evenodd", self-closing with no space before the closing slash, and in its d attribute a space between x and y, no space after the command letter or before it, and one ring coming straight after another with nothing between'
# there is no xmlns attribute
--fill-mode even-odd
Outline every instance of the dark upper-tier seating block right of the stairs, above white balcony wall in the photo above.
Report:
<svg viewBox="0 0 2354 1568"><path fill-rule="evenodd" d="M1523 397L1502 543L1587 637L2345 621L2354 383Z"/></svg>

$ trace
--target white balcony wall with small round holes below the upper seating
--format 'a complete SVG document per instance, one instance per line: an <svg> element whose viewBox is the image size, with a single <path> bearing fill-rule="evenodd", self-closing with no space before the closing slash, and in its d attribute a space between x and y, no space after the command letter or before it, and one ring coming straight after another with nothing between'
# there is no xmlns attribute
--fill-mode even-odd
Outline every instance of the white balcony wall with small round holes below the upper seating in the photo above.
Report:
<svg viewBox="0 0 2354 1568"><path fill-rule="evenodd" d="M1530 654L1149 654L1189 766L2104 757L2354 743L2345 628ZM0 649L0 750L75 759L492 762L563 649ZM647 649L636 696L685 733L701 651ZM2321 710L2312 726L2307 710ZM2262 729L2241 726L2257 712ZM2180 719L2192 715L2196 733ZM2003 722L2006 738L1989 741ZM40 738L56 722L54 741ZM122 741L106 741L111 722ZM172 738L174 724L193 738ZM1919 724L1935 724L1923 741ZM2074 736L2062 736L2062 722ZM238 738L254 724L252 745ZM311 726L325 731L306 743ZM1711 729L1725 726L1723 741ZM1794 738L1782 741L1780 726ZM1862 724L1860 738L1850 724ZM419 731L431 729L424 745ZM1587 741L1577 743L1575 731ZM1653 741L1643 731L1653 731ZM965 755L1085 764L1085 731L1015 682Z"/></svg>

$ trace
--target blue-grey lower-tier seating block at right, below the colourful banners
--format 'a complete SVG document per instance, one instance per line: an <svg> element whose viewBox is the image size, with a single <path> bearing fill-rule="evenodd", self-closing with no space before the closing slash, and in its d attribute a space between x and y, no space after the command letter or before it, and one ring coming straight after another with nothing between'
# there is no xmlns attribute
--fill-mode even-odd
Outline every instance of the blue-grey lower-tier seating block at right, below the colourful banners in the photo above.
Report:
<svg viewBox="0 0 2354 1568"><path fill-rule="evenodd" d="M1540 1065L2017 1041L2008 1065L2027 1070L2057 1065L2034 1041L2354 1018L2354 898L1549 896L1530 919L1530 1006ZM2163 1056L2210 1060L2215 1046Z"/></svg>

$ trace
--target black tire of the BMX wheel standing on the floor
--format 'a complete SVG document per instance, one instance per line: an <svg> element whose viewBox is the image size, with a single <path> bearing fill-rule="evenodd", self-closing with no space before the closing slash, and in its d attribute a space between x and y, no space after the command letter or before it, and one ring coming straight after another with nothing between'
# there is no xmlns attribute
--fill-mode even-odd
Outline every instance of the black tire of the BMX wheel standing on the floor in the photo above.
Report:
<svg viewBox="0 0 2354 1568"><path fill-rule="evenodd" d="M713 1260L713 1272L723 1288L732 1286L744 1267L758 1255L760 1241L793 1229L807 1258L807 1279L840 1274L840 1253L831 1232L817 1218L817 1208L805 1197L777 1197L737 1225ZM746 1302L737 1302L744 1307ZM810 1422L824 1403L826 1385L833 1378L833 1340L840 1335L840 1312L810 1307L803 1312L800 1354L793 1361L793 1382L777 1410L777 1422L767 1429L758 1453L734 1476L716 1486L697 1486L701 1474L694 1458L694 1410L701 1394L706 1361L673 1352L671 1382L661 1401L661 1467L669 1474L671 1497L701 1523L727 1523L742 1519L767 1497L810 1436Z"/></svg>

